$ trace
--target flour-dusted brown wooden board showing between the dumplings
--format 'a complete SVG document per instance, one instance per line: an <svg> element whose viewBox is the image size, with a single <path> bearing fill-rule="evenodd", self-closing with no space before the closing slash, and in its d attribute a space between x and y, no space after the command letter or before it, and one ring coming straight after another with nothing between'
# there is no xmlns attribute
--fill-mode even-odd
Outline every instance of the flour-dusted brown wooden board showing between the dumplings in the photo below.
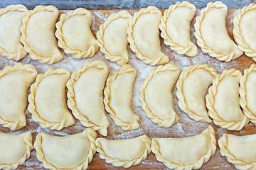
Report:
<svg viewBox="0 0 256 170"><path fill-rule="evenodd" d="M101 10L101 11L91 11L93 16L93 22L92 22L92 33L96 35L97 30L99 30L100 24L102 24L108 16L110 16L111 13L117 13L119 10ZM139 10L127 10L129 13L133 14L136 11ZM164 10L161 10L164 13ZM228 34L233 39L232 30L233 30L233 16L236 13L236 9L228 9L228 16L226 19L226 26L228 28ZM68 13L68 11L60 11L61 13ZM200 11L198 10L196 12L196 16L200 14ZM196 22L196 16L193 18L193 21L191 22L191 38L192 41L196 44L196 38L194 37L194 28L193 25ZM129 46L128 46L129 49ZM181 68L182 71L186 70L186 68L190 65L201 63L201 64L209 64L210 67L215 68L218 71L218 74L223 72L224 69L239 69L241 72L243 72L244 69L249 68L251 64L255 63L250 57L246 57L245 55L242 55L242 57L239 57L236 60L232 60L231 62L220 62L219 60L210 57L210 55L204 53L201 51L201 49L198 47L198 55L196 57L186 57L185 55L178 55L176 52L170 50L169 46L164 45L163 39L161 38L161 49L166 55L169 56L170 62L173 64L176 64L178 67ZM63 50L62 50L63 52ZM64 52L63 52L64 54ZM103 60L107 63L107 65L110 67L110 75L114 74L114 71L119 69L119 65L117 65L115 62L110 62L109 60L106 60L104 57L104 54L100 52L100 50L97 52L97 54L94 57L86 58L86 59L74 59L71 57L71 55L65 55L64 60L48 65L48 64L41 64L40 62L36 60L31 60L29 56L26 56L23 58L23 60L20 60L19 62L22 62L23 64L32 64L36 67L38 74L46 72L48 68L65 68L69 69L70 72L74 72L76 69L78 69L80 66L85 64L85 62L88 61L94 61L94 60ZM14 65L17 62L14 60L7 60L5 57L0 56L0 69L4 69L7 65ZM174 109L178 116L180 117L180 120L178 123L172 125L170 128L159 128L159 126L155 123L152 123L149 118L146 117L146 114L142 110L141 103L139 102L139 87L142 85L145 77L149 75L149 72L151 69L155 69L156 66L152 67L149 64L144 64L142 60L139 60L134 52L132 52L129 49L129 64L132 64L134 68L137 69L137 79L134 84L134 98L132 102L132 109L134 113L139 115L141 120L139 121L139 129L133 130L133 131L124 131L117 125L114 125L113 120L110 118L110 115L107 113L107 118L110 120L110 127L107 129L108 135L107 139L114 140L114 139L127 139L131 137L138 137L140 135L146 134L150 138L154 137L188 137L191 135L198 135L201 133L204 129L208 127L208 125L212 125L215 129L216 138L217 140L223 135L223 133L232 133L234 135L250 135L256 133L256 127L254 124L249 123L245 128L242 128L242 130L239 131L230 131L225 130L223 128L220 128L217 125L214 125L213 123L202 123L202 122L196 122L188 117L186 113L181 111L181 109L178 107L178 99L176 98L176 86L174 87L173 95L174 95ZM18 88L18 87L17 87ZM30 92L28 91L28 94ZM71 111L70 111L71 112ZM8 128L3 128L2 125L0 126L1 132L8 132L12 134L19 134L21 132L27 132L31 131L33 136L33 142L36 139L36 135L39 132L47 132L50 135L73 135L79 132L82 132L85 130L85 127L83 127L79 120L75 120L75 125L70 126L68 128L64 128L63 130L57 131L57 130L50 130L49 128L41 128L40 125L36 122L34 122L31 119L31 113L28 113L26 110L26 120L27 125L25 128L22 128L21 130L11 132ZM97 132L97 137L102 137ZM200 142L200 141L198 141ZM193 147L193 146L191 146ZM41 162L36 159L36 150L33 149L31 152L31 157L22 165L18 166L18 169L43 169L43 165ZM98 154L95 154L95 157L92 159L92 162L88 166L88 169L123 169L122 167L114 167L111 164L105 163L104 159L100 159ZM156 157L153 153L149 154L149 156L144 160L141 164L137 166L131 166L129 169L167 169L164 164L161 162L157 162ZM219 147L217 147L216 153L213 157L210 158L209 162L206 164L203 164L201 169L235 169L235 167L230 164L225 157L222 157L220 155Z"/></svg>

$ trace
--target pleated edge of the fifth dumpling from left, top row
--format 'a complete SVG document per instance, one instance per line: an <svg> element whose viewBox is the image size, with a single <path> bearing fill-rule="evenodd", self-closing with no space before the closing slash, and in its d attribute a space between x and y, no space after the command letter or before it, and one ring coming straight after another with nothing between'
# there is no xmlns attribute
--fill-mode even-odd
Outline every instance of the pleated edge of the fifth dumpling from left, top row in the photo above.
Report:
<svg viewBox="0 0 256 170"><path fill-rule="evenodd" d="M141 8L139 12L134 13L134 16L129 21L129 26L127 28L127 34L128 34L127 40L130 44L130 48L133 52L136 53L137 57L143 60L143 62L145 62L146 64L151 64L151 65L166 64L167 62L169 62L169 58L166 55L162 55L161 57L156 59L151 59L149 57L144 56L142 52L138 50L137 45L135 44L134 37L133 37L134 25L137 22L138 18L146 13L159 13L162 15L161 11L159 11L159 9L154 6Z"/></svg>

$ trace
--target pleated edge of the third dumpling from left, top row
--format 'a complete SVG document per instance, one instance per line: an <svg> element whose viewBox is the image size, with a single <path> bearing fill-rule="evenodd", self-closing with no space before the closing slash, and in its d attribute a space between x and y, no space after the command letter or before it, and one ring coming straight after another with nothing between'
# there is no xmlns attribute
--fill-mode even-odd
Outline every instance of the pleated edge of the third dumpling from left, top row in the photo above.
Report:
<svg viewBox="0 0 256 170"><path fill-rule="evenodd" d="M63 48L65 53L71 54L72 57L74 57L74 58L93 57L95 55L95 53L99 50L99 47L96 44L96 42L94 44L92 44L89 47L89 49L87 49L86 51L74 50L65 44L65 40L63 38L63 32L62 32L63 23L68 18L70 18L72 16L76 16L76 15L86 16L88 13L90 13L90 11L87 11L87 9L85 9L85 8L77 8L74 11L70 11L68 14L63 13L60 16L60 21L58 21L58 23L55 24L55 26L57 28L55 31L55 36L56 36L56 38L58 38L58 47Z"/></svg>

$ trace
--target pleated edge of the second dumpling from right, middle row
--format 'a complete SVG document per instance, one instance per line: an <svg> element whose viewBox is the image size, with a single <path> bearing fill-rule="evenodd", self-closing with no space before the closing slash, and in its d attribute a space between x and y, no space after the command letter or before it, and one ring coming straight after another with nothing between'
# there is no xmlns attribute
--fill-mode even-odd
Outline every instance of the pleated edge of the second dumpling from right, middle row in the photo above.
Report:
<svg viewBox="0 0 256 170"><path fill-rule="evenodd" d="M241 72L239 70L225 69L223 74L218 74L216 76L216 78L213 80L213 85L208 89L208 94L206 95L206 107L208 108L208 115L210 115L210 118L213 118L215 125L219 125L221 128L226 128L228 130L241 130L250 121L246 116L244 116L244 118L239 122L228 123L218 116L218 113L216 113L213 107L215 103L215 95L217 94L217 88L220 81L222 81L222 79L226 76L239 77L240 75Z"/></svg>

